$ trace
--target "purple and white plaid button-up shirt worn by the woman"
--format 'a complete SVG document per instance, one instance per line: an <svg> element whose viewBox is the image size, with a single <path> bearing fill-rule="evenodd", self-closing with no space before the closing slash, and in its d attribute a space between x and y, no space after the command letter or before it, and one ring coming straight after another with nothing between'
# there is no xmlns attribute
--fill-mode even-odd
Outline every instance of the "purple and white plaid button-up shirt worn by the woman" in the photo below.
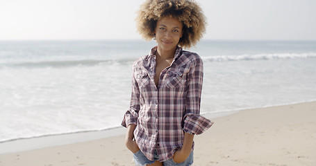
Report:
<svg viewBox="0 0 316 166"><path fill-rule="evenodd" d="M184 132L203 133L213 122L199 115L201 57L177 48L172 64L161 71L157 88L156 50L157 46L133 64L131 107L122 125L136 124L134 138L142 153L153 160L157 149L159 160L164 161L181 149Z"/></svg>

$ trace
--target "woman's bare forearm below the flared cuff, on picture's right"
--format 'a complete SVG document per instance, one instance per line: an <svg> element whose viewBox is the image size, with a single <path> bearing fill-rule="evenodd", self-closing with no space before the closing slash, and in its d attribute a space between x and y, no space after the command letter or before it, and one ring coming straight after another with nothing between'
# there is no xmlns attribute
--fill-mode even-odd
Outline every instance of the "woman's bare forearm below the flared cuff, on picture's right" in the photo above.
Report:
<svg viewBox="0 0 316 166"><path fill-rule="evenodd" d="M192 151L194 134L184 133L183 147L174 153L174 162L184 162Z"/></svg>

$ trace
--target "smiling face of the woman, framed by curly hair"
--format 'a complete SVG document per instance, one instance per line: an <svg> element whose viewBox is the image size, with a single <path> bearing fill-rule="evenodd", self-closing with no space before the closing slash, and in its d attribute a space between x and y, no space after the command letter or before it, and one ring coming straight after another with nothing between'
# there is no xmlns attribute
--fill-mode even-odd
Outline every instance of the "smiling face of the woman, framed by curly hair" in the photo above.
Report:
<svg viewBox="0 0 316 166"><path fill-rule="evenodd" d="M163 51L176 49L182 37L183 24L173 17L163 17L157 21L156 41L158 48Z"/></svg>

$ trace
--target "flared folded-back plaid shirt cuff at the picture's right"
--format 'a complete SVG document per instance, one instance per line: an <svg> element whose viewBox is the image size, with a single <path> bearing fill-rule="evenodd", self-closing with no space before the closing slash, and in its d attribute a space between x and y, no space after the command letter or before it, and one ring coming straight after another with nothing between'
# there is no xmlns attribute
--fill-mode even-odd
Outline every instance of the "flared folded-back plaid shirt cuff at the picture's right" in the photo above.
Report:
<svg viewBox="0 0 316 166"><path fill-rule="evenodd" d="M188 113L184 117L183 131L199 135L210 128L213 123L199 114Z"/></svg>

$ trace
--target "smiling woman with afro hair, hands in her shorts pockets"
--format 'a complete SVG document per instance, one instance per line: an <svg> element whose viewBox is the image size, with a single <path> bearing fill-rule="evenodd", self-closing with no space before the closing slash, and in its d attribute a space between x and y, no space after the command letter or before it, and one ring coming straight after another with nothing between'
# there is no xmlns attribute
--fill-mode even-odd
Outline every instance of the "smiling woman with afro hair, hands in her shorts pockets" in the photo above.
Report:
<svg viewBox="0 0 316 166"><path fill-rule="evenodd" d="M192 165L194 134L213 122L199 115L203 62L183 50L205 32L201 8L189 0L147 0L138 31L158 46L133 64L131 107L122 125L136 165Z"/></svg>

